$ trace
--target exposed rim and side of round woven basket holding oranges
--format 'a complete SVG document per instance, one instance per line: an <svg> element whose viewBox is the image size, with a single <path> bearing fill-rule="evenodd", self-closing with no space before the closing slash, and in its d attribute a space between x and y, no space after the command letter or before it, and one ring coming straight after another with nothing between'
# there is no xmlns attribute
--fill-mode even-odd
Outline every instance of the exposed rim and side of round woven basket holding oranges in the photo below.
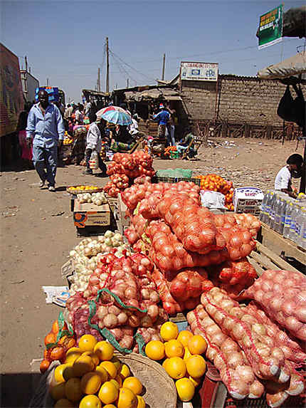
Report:
<svg viewBox="0 0 306 408"><path fill-rule="evenodd" d="M122 355L115 352L116 357L130 367L132 375L139 378L144 386L144 401L150 408L175 408L176 387L161 365L147 357L131 352Z"/></svg>

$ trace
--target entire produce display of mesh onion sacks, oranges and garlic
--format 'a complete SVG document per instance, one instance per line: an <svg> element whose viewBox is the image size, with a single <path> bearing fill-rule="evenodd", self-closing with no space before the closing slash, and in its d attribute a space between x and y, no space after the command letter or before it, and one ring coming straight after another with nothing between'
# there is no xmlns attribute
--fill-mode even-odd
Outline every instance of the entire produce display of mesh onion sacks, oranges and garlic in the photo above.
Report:
<svg viewBox="0 0 306 408"><path fill-rule="evenodd" d="M214 387L218 407L304 404L306 278L266 260L255 215L203 205L201 187L230 197L232 184L152 183L145 152L116 154L107 171L104 193L70 187L74 209L117 196L125 225L71 249L31 407L215 407Z"/></svg>

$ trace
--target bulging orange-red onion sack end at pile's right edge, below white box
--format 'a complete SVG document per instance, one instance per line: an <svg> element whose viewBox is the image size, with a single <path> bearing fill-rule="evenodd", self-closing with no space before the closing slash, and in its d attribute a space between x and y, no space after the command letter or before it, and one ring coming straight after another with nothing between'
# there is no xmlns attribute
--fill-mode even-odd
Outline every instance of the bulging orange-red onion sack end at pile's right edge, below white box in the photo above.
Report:
<svg viewBox="0 0 306 408"><path fill-rule="evenodd" d="M256 246L256 243L247 229L233 227L231 229L218 228L226 241L228 259L237 261L250 255Z"/></svg>

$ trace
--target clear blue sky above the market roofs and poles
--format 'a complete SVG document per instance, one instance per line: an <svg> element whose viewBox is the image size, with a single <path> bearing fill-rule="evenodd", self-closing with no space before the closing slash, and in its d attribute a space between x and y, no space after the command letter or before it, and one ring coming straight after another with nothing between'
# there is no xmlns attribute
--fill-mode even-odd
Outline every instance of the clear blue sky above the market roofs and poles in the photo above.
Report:
<svg viewBox="0 0 306 408"><path fill-rule="evenodd" d="M219 73L256 75L258 70L300 51L305 40L258 50L261 14L280 1L1 1L1 42L23 62L40 85L58 86L81 100L95 89L97 68L105 90L105 38L110 48L110 90L154 84L179 73L180 61L216 62ZM305 1L285 1L284 10ZM23 64L24 68L24 64Z"/></svg>

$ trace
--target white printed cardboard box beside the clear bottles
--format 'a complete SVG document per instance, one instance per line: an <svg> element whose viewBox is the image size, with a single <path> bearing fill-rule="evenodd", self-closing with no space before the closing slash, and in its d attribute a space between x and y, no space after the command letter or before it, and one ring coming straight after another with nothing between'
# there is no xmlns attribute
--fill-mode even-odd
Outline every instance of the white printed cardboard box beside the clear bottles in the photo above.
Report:
<svg viewBox="0 0 306 408"><path fill-rule="evenodd" d="M263 192L257 187L239 187L233 192L233 206L236 213L258 215L263 202Z"/></svg>

